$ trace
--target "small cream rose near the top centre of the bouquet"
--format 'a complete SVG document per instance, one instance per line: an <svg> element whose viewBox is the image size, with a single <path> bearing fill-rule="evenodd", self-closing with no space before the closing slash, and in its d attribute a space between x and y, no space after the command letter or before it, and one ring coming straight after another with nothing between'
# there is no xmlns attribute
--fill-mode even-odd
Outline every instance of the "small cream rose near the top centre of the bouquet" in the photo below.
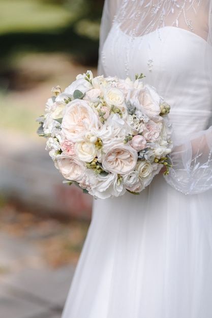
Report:
<svg viewBox="0 0 212 318"><path fill-rule="evenodd" d="M124 101L125 96L124 93L116 88L116 87L110 87L105 90L104 92L104 99L106 104L111 108L111 106L115 106L120 110L123 110L125 108Z"/></svg>

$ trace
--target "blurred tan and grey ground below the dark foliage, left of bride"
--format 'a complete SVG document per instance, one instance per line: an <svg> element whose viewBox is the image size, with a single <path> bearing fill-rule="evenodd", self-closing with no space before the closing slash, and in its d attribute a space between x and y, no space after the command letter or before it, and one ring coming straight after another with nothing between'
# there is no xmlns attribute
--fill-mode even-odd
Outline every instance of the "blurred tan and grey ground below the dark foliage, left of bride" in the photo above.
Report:
<svg viewBox="0 0 212 318"><path fill-rule="evenodd" d="M23 58L23 60L22 60ZM92 199L62 183L37 137L51 87L78 73L65 54L29 54L1 92L0 317L59 318L87 233Z"/></svg>

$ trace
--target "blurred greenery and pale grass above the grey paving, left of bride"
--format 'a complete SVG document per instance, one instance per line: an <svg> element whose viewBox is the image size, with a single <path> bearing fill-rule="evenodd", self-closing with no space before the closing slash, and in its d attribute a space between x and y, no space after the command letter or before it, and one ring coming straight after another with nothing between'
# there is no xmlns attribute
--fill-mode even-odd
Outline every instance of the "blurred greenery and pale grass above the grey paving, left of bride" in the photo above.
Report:
<svg viewBox="0 0 212 318"><path fill-rule="evenodd" d="M0 1L0 127L35 137L51 87L98 60L103 0Z"/></svg>

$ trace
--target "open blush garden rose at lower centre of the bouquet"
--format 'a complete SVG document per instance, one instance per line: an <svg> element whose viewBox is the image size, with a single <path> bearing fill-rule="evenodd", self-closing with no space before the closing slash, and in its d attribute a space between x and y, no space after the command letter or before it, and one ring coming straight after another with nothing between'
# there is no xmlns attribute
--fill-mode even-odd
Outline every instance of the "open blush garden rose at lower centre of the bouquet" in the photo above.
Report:
<svg viewBox="0 0 212 318"><path fill-rule="evenodd" d="M102 156L102 166L106 171L123 176L135 169L137 158L137 151L130 145L118 143Z"/></svg>

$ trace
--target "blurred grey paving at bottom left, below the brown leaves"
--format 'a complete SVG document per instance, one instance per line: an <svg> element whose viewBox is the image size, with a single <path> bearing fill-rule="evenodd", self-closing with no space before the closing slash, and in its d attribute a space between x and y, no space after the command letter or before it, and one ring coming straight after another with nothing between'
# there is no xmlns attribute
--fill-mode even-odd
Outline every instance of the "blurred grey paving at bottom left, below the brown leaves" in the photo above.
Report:
<svg viewBox="0 0 212 318"><path fill-rule="evenodd" d="M74 266L42 263L34 242L0 233L1 318L59 318Z"/></svg>

